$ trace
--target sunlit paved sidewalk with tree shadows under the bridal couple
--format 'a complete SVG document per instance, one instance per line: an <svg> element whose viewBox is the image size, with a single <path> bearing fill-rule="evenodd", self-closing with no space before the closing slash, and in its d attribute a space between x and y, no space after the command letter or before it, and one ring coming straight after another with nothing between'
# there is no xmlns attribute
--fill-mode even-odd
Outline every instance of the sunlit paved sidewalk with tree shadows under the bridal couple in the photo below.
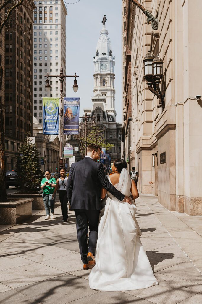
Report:
<svg viewBox="0 0 202 304"><path fill-rule="evenodd" d="M53 220L45 221L43 210L30 223L0 226L0 303L201 304L202 216L169 212L153 195L140 194L136 203L141 241L159 285L126 292L91 290L74 212L62 223L58 207Z"/></svg>

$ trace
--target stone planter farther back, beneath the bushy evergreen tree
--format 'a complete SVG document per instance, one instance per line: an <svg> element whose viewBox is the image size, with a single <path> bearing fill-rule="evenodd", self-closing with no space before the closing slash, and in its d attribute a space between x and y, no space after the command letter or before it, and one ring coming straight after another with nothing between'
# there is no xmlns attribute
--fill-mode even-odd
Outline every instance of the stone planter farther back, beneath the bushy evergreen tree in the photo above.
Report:
<svg viewBox="0 0 202 304"><path fill-rule="evenodd" d="M7 194L8 199L32 199L32 210L42 210L45 209L44 201L42 195L38 193L14 193Z"/></svg>

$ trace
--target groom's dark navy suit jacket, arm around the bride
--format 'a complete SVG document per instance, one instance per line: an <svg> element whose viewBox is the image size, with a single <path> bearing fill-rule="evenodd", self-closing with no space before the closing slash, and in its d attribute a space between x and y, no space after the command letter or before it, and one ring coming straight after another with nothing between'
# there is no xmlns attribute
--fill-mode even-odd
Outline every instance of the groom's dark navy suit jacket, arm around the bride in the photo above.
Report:
<svg viewBox="0 0 202 304"><path fill-rule="evenodd" d="M102 164L85 157L71 165L67 197L72 209L101 210L101 187L122 201L124 195L109 182Z"/></svg>

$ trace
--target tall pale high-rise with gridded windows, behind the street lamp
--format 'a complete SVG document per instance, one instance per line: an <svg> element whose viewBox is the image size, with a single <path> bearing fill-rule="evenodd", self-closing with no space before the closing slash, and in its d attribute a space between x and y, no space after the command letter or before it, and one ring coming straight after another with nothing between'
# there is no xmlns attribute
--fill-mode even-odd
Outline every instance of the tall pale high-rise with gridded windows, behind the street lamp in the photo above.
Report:
<svg viewBox="0 0 202 304"><path fill-rule="evenodd" d="M34 1L33 29L33 116L43 124L42 97L60 97L60 81L49 78L51 90L45 91L45 75L65 74L66 35L65 17L67 11L61 0ZM65 81L63 92L65 93Z"/></svg>

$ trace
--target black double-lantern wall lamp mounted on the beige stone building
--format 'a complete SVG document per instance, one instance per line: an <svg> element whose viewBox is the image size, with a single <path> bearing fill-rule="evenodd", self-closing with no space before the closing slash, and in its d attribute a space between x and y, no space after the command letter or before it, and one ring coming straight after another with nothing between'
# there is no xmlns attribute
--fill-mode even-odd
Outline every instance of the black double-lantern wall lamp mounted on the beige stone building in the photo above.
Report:
<svg viewBox="0 0 202 304"><path fill-rule="evenodd" d="M143 59L144 79L147 81L149 90L159 99L157 108L165 108L165 92L161 92L160 83L163 78L163 60L157 55L147 53Z"/></svg>

